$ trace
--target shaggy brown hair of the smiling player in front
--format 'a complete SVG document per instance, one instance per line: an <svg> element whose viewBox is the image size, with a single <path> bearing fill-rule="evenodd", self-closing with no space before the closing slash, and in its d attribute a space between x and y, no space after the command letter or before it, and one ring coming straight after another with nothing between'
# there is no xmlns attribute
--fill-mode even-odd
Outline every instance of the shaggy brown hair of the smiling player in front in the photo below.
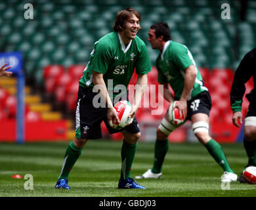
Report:
<svg viewBox="0 0 256 210"><path fill-rule="evenodd" d="M141 20L139 12L135 11L132 7L128 7L127 9L124 9L123 11L117 12L115 25L113 26L113 29L115 32L119 32L125 29L125 21L127 21L133 14ZM140 28L141 29L141 28Z"/></svg>

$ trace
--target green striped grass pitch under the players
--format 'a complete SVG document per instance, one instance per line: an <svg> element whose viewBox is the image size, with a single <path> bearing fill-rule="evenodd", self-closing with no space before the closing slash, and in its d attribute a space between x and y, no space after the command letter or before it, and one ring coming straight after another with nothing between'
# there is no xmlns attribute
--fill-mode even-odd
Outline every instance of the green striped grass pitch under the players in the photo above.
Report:
<svg viewBox="0 0 256 210"><path fill-rule="evenodd" d="M163 179L138 180L146 190L119 190L121 142L91 140L70 173L71 190L56 190L64 152L69 142L0 143L0 196L79 196L79 197L174 197L174 196L256 196L256 185L232 182L223 186L223 171L200 144L170 144L163 165ZM247 163L242 144L222 144L232 169L240 175ZM154 143L139 142L132 176L152 167ZM33 190L26 190L33 176ZM31 186L31 185L30 185Z"/></svg>

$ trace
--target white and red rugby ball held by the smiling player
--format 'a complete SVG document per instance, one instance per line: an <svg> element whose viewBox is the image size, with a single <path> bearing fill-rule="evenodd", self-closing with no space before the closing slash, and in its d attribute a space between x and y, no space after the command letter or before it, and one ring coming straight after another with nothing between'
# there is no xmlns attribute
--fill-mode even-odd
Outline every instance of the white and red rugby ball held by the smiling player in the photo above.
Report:
<svg viewBox="0 0 256 210"><path fill-rule="evenodd" d="M129 117L131 112L131 103L127 100L120 100L115 106L117 117L119 118L119 123L113 120L114 129L122 129L127 124L133 122L133 118Z"/></svg>

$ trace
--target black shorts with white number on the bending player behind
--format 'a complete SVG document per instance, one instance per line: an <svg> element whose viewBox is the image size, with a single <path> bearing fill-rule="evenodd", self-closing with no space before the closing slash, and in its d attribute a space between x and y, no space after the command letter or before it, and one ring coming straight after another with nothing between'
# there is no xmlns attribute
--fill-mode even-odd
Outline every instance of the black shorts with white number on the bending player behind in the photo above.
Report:
<svg viewBox="0 0 256 210"><path fill-rule="evenodd" d="M203 91L187 102L188 114L186 119L191 120L191 116L198 113L209 116L211 110L211 96L208 91Z"/></svg>

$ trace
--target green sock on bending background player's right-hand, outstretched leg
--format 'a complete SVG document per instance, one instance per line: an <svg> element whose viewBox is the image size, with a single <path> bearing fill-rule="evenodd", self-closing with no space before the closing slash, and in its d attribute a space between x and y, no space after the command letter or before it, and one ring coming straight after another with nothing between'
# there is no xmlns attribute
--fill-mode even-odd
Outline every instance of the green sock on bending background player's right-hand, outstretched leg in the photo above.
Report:
<svg viewBox="0 0 256 210"><path fill-rule="evenodd" d="M221 165L224 171L234 173L234 171L232 171L228 165L228 161L226 160L223 149L218 142L215 142L215 140L211 138L211 140L205 144L205 147L207 148L209 154L211 154L211 156L215 159L215 161Z"/></svg>

